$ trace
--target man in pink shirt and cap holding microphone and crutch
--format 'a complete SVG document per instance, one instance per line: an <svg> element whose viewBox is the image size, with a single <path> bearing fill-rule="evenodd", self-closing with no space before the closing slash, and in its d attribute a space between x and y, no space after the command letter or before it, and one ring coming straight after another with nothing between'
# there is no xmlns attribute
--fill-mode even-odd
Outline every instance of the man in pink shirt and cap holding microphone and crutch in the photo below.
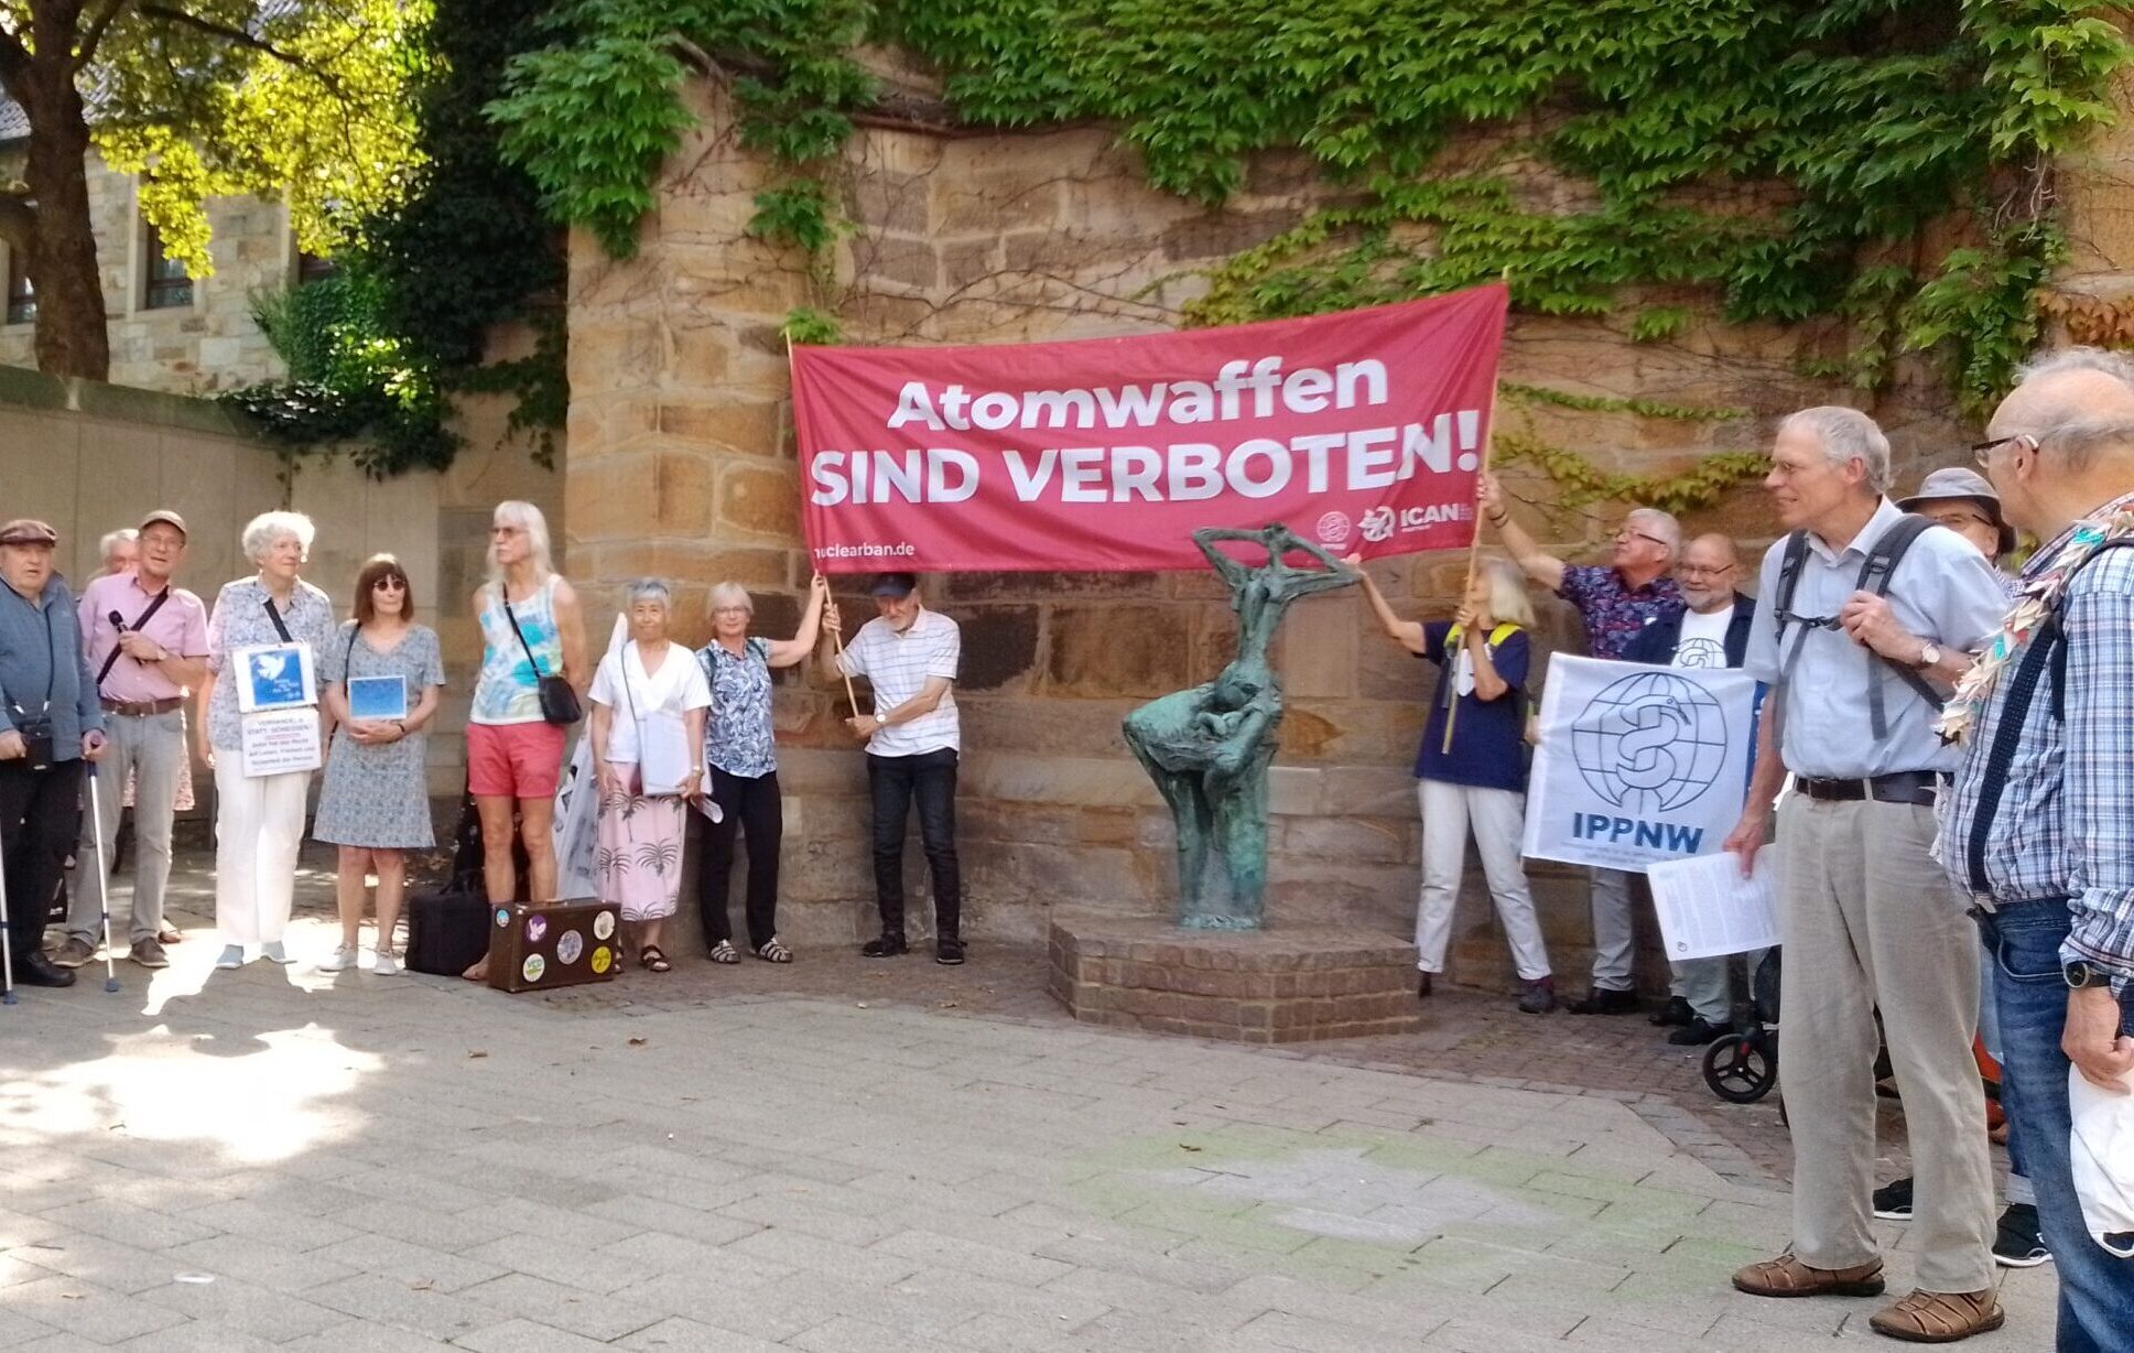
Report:
<svg viewBox="0 0 2134 1353"><path fill-rule="evenodd" d="M207 606L173 587L186 561L186 519L149 512L139 531L132 572L105 574L81 589L81 632L111 734L111 790L100 813L83 815L83 884L66 918L66 943L51 956L60 967L96 958L98 920L111 879L96 869L111 858L120 830L120 785L134 781L134 888L128 939L141 967L169 967L162 952L162 892L171 881L171 822L177 779L186 768L186 689L207 676ZM102 851L94 832L102 832Z"/></svg>

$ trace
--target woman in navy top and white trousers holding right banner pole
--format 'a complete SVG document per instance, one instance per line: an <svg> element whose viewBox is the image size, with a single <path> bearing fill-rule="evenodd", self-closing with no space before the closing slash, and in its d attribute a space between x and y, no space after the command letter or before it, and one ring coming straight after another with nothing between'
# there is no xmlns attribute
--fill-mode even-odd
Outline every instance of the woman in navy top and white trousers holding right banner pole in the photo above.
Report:
<svg viewBox="0 0 2134 1353"><path fill-rule="evenodd" d="M1415 798L1423 813L1423 888L1415 907L1417 997L1445 971L1445 948L1466 873L1468 830L1490 879L1496 916L1519 973L1519 1009L1543 1014L1556 1007L1556 977L1549 950L1534 918L1534 894L1519 862L1526 826L1526 670L1528 630L1534 608L1526 600L1526 578L1504 559L1485 559L1468 583L1458 615L1445 621L1404 621L1385 593L1364 572L1355 555L1347 559L1364 578L1364 595L1387 638L1408 653L1438 664L1438 679L1423 723L1423 745L1415 753ZM1458 713L1453 713L1458 704ZM1451 719L1447 747L1445 721Z"/></svg>

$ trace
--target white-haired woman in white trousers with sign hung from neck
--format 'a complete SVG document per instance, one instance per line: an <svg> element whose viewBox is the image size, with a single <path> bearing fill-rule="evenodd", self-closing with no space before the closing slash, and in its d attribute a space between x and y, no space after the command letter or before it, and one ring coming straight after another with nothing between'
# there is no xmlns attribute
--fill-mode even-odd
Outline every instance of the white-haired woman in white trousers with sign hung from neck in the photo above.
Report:
<svg viewBox="0 0 2134 1353"><path fill-rule="evenodd" d="M258 574L224 583L207 619L207 762L216 770L216 928L224 950L216 967L243 967L245 948L288 962L288 926L303 843L309 770L245 775L243 715L230 655L258 644L309 644L312 662L333 642L333 602L297 574L312 553L312 519L260 512L241 536ZM314 672L312 696L318 696Z"/></svg>

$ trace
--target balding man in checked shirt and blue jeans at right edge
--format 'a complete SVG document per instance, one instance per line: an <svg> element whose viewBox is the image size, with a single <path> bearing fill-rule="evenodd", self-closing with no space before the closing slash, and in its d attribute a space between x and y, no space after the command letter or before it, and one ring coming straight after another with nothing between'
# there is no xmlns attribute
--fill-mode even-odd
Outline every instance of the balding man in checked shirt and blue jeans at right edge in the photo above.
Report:
<svg viewBox="0 0 2134 1353"><path fill-rule="evenodd" d="M2000 1014L2004 1105L2059 1263L2059 1353L2125 1349L2134 1259L2083 1223L2068 1067L2134 1071L2134 365L2072 348L2025 369L1978 459L2044 544L2023 617L1957 687L1963 766L1942 864L1974 903ZM1786 1012L1793 1037L1793 1012Z"/></svg>

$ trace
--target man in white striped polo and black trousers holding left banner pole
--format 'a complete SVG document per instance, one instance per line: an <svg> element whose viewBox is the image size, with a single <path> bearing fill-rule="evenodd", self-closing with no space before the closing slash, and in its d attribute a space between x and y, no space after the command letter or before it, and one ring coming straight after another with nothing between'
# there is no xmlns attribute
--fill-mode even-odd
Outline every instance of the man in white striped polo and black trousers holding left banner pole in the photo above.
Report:
<svg viewBox="0 0 2134 1353"><path fill-rule="evenodd" d="M875 805L875 905L881 935L860 945L869 958L894 958L905 943L905 822L911 800L920 807L920 841L933 871L935 962L962 962L962 890L956 877L956 758L962 745L956 719L956 666L962 630L920 602L913 574L879 574L873 585L875 619L860 625L843 653L837 606L822 638L824 668L837 676L866 676L875 713L854 711L845 726L866 743L866 785Z"/></svg>

